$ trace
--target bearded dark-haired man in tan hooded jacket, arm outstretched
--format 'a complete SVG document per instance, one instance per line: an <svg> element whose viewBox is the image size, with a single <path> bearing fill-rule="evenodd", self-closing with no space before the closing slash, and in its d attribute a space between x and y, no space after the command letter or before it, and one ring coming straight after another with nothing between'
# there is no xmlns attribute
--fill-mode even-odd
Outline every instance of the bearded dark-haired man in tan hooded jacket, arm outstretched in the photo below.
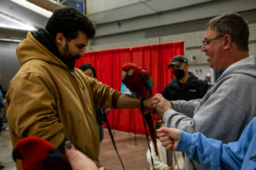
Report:
<svg viewBox="0 0 256 170"><path fill-rule="evenodd" d="M83 14L61 8L49 18L45 30L28 32L20 42L17 57L21 68L6 96L13 145L24 137L38 136L63 151L64 141L69 139L98 161L96 108L140 107L139 99L120 94L74 68L94 36L95 28Z"/></svg>

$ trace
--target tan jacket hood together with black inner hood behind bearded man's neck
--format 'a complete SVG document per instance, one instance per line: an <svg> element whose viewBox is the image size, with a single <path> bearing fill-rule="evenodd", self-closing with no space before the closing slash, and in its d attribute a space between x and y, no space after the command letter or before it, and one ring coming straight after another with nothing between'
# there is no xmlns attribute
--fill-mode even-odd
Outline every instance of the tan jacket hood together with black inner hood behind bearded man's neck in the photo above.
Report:
<svg viewBox="0 0 256 170"><path fill-rule="evenodd" d="M44 34L42 30L33 33L38 39L42 39L40 38L42 34ZM50 37L46 37L43 41L39 42L33 35L32 32L29 31L26 35L26 39L22 40L17 47L16 53L20 65L24 65L31 59L40 59L68 70L67 65L57 57L57 55L59 55L58 50L55 47L55 43L49 39Z"/></svg>

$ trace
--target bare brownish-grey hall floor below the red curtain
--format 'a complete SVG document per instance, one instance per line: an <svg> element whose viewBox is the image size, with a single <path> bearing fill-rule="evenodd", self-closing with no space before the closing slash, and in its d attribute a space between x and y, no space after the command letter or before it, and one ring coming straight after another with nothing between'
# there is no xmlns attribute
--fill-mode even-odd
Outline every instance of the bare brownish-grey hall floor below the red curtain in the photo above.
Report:
<svg viewBox="0 0 256 170"><path fill-rule="evenodd" d="M120 170L122 167L107 130L105 130L104 135L105 138L101 144L100 162L107 170ZM136 145L134 137L134 134L131 133L116 132L114 134L119 155L124 162L126 170L147 170L147 140L144 136L137 135ZM11 150L9 131L2 131L0 134L0 161L5 164L4 170L16 169L15 163L11 158Z"/></svg>

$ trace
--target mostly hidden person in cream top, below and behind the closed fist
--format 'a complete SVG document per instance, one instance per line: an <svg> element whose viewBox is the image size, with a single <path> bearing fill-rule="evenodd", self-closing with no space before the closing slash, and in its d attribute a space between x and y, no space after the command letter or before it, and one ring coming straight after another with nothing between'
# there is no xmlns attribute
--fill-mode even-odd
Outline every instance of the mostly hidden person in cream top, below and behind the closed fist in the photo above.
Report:
<svg viewBox="0 0 256 170"><path fill-rule="evenodd" d="M160 127L165 127L165 122L162 120L159 120L158 122L155 122L155 129L159 129ZM147 150L147 161L150 166L150 169L153 170L177 170L177 169L183 169L184 167L184 159L182 152L172 152L166 150L162 144L160 143L159 139L156 139L157 142L157 150L158 150L158 156L156 156L154 152L154 146L152 140L149 143L149 147ZM175 156L174 156L175 154ZM154 167L152 165L151 156L154 161Z"/></svg>

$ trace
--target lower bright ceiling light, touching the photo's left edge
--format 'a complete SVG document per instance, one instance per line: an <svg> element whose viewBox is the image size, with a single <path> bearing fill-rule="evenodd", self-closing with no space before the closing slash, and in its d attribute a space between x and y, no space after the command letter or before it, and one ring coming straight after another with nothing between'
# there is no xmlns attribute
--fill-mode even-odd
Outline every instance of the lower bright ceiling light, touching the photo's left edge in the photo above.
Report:
<svg viewBox="0 0 256 170"><path fill-rule="evenodd" d="M30 24L26 24L21 20L16 20L15 18L12 18L8 14L0 13L0 27L3 28L11 28L15 30L25 30L25 31L35 31L37 30L34 26ZM6 22L4 22L6 21Z"/></svg>

